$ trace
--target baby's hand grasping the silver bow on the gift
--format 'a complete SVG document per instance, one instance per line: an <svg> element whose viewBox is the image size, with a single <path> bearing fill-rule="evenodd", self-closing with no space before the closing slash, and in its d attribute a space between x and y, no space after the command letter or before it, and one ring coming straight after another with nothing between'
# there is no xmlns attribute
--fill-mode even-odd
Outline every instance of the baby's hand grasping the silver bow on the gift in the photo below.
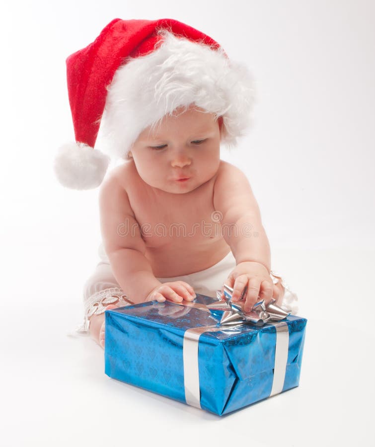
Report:
<svg viewBox="0 0 375 447"><path fill-rule="evenodd" d="M233 302L239 300L243 289L247 286L246 295L243 297L245 312L249 312L260 299L264 299L267 305L272 299L277 300L280 295L280 288L274 286L268 270L259 262L240 262L230 273L225 284L233 289ZM222 298L224 298L223 288Z"/></svg>

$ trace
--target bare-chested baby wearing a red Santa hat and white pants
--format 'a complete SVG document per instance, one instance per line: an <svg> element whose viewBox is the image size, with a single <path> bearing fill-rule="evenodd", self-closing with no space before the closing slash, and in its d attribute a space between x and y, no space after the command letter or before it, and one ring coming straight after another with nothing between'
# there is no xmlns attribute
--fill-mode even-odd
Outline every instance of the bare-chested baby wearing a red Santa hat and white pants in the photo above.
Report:
<svg viewBox="0 0 375 447"><path fill-rule="evenodd" d="M246 176L220 159L221 143L250 124L247 70L172 19L115 19L67 66L78 146L61 149L59 180L101 183L108 157L92 149L97 136L126 159L100 187L102 259L84 287L83 330L104 347L105 309L216 297L224 284L233 301L243 294L245 311L259 299L285 305L285 289L293 304L272 274Z"/></svg>

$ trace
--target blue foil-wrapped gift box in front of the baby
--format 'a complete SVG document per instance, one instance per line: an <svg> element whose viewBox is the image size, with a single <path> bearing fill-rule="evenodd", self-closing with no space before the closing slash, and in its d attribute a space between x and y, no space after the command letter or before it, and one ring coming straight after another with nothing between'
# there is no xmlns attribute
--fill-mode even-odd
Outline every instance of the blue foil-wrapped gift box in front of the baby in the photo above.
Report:
<svg viewBox="0 0 375 447"><path fill-rule="evenodd" d="M223 326L215 301L107 310L105 373L218 415L298 386L307 320Z"/></svg>

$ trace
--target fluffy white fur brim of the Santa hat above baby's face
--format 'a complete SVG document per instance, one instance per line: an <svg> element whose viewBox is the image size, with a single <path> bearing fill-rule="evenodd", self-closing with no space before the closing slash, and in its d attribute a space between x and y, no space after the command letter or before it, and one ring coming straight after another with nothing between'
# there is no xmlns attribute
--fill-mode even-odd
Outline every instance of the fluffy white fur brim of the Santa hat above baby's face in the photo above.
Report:
<svg viewBox="0 0 375 447"><path fill-rule="evenodd" d="M100 148L129 158L128 150L145 128L193 103L223 117L222 142L235 146L252 125L252 74L229 60L222 48L161 33L159 48L126 61L115 73L97 137Z"/></svg>

